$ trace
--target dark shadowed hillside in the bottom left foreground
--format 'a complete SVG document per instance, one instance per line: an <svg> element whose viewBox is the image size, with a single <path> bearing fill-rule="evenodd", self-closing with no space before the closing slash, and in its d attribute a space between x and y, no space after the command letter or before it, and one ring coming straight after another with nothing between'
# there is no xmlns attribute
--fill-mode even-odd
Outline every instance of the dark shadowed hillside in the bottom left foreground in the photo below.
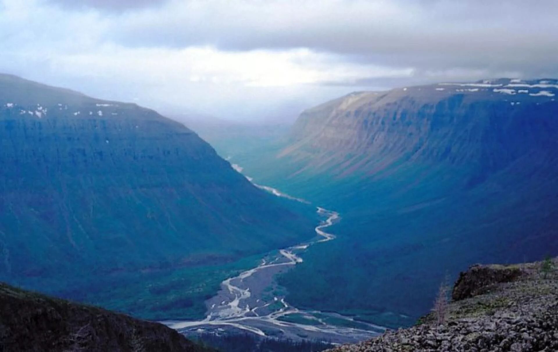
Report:
<svg viewBox="0 0 558 352"><path fill-rule="evenodd" d="M162 324L0 283L2 351L174 351L203 348Z"/></svg>

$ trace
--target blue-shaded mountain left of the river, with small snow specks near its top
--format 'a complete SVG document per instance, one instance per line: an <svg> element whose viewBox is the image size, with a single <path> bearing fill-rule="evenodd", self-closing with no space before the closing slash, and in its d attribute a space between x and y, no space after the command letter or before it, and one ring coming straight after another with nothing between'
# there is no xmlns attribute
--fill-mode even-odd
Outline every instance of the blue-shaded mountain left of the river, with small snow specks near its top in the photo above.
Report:
<svg viewBox="0 0 558 352"><path fill-rule="evenodd" d="M25 287L81 297L112 278L116 294L125 273L230 263L315 225L313 209L259 190L190 129L136 104L0 75L0 140L0 279ZM201 314L218 287L208 276L175 287L199 295Z"/></svg>

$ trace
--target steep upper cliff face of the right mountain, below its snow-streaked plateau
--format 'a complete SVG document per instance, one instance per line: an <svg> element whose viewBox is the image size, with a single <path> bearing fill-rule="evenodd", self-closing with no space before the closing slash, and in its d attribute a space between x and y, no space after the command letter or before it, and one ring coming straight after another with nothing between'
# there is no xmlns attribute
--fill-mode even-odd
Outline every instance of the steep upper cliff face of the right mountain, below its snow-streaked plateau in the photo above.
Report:
<svg viewBox="0 0 558 352"><path fill-rule="evenodd" d="M556 80L509 79L353 93L303 112L280 157L340 177L407 162L485 176L556 147L557 93Z"/></svg>

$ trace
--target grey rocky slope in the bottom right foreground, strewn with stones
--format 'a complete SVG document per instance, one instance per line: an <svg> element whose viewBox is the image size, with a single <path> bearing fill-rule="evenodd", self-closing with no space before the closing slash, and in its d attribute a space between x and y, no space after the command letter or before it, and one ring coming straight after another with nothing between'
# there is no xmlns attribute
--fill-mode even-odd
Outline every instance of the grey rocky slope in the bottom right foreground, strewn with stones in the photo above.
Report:
<svg viewBox="0 0 558 352"><path fill-rule="evenodd" d="M475 265L455 283L443 324L432 312L417 326L331 351L558 351L555 267Z"/></svg>

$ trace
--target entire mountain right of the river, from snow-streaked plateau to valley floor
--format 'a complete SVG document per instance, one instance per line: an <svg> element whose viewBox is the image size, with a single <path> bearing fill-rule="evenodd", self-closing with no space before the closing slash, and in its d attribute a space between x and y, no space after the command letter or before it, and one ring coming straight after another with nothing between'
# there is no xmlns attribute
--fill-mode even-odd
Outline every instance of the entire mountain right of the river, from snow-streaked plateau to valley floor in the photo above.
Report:
<svg viewBox="0 0 558 352"><path fill-rule="evenodd" d="M233 157L343 218L282 277L289 302L407 325L459 267L558 254L557 94L555 79L352 93Z"/></svg>

